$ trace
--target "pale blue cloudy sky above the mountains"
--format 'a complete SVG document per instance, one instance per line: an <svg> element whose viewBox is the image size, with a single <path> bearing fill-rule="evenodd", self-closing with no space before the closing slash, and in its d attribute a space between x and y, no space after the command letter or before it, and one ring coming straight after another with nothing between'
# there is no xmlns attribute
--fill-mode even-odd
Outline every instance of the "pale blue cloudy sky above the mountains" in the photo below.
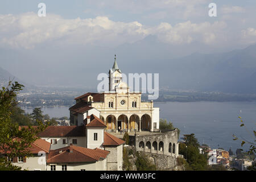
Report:
<svg viewBox="0 0 256 182"><path fill-rule="evenodd" d="M42 2L46 4L46 17L38 16L38 4ZM216 3L216 17L208 14L210 3ZM161 43L176 48L172 55L168 55L168 51L161 53L163 59L193 52L232 51L256 43L255 12L253 0L3 0L0 2L0 49L9 55L3 53L1 67L36 84L38 81L27 74L27 67L34 64L44 70L55 63L66 65L66 71L70 64L64 62L74 61L72 51L76 54L74 59L89 59L85 61L87 65L92 60L104 64L102 59L106 59L110 67L114 54L120 58L130 56L133 44L144 40L151 46ZM154 41L149 39L151 36ZM116 51L125 46L126 54ZM149 57L157 58L159 54L148 51ZM11 55L17 56L14 59ZM36 63L35 59L42 62L40 57L44 57L44 64Z"/></svg>

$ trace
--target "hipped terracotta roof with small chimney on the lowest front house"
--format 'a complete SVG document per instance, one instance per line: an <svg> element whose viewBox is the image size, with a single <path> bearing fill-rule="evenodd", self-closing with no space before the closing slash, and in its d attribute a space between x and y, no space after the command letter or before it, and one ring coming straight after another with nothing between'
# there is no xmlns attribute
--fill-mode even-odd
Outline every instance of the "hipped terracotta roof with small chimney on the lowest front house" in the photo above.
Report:
<svg viewBox="0 0 256 182"><path fill-rule="evenodd" d="M100 159L106 159L108 154L109 151L101 150L100 148L90 149L79 146L68 146L50 151L47 163L97 162Z"/></svg>

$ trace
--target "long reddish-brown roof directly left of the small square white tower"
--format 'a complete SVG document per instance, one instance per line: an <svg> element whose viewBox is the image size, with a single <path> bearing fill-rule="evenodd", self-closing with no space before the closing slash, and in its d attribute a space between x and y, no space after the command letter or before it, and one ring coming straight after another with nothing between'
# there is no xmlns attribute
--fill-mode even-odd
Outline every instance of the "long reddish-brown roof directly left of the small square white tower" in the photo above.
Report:
<svg viewBox="0 0 256 182"><path fill-rule="evenodd" d="M38 137L85 137L83 126L48 126Z"/></svg>

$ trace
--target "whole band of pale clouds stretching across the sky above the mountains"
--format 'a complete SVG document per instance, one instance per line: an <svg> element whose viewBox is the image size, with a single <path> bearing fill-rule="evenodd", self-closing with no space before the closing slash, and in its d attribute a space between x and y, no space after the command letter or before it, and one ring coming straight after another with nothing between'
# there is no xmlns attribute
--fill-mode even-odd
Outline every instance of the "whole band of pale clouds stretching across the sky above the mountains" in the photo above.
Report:
<svg viewBox="0 0 256 182"><path fill-rule="evenodd" d="M191 44L223 46L232 44L234 34L224 21L192 23L191 21L156 26L145 26L137 21L116 22L106 16L96 18L64 19L47 14L40 18L35 13L0 15L0 46L32 49L44 43L52 45L96 45L115 47L134 43L148 35L156 35L160 42L168 44ZM242 31L243 41L255 34L253 28ZM251 42L251 41L249 41Z"/></svg>

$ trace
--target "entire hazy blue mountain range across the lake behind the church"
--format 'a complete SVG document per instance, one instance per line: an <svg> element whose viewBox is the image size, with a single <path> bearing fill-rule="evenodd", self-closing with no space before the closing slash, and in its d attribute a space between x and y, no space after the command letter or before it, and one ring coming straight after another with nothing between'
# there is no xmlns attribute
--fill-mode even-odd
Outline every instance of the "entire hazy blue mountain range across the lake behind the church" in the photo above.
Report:
<svg viewBox="0 0 256 182"><path fill-rule="evenodd" d="M96 90L100 82L97 75L108 73L117 54L118 67L123 73L159 73L160 87L256 92L256 44L226 52L210 50L200 43L172 46L148 36L114 48L48 45L23 52L0 49L0 60L1 67L31 85L85 86ZM13 76L0 69L2 82L9 77Z"/></svg>

